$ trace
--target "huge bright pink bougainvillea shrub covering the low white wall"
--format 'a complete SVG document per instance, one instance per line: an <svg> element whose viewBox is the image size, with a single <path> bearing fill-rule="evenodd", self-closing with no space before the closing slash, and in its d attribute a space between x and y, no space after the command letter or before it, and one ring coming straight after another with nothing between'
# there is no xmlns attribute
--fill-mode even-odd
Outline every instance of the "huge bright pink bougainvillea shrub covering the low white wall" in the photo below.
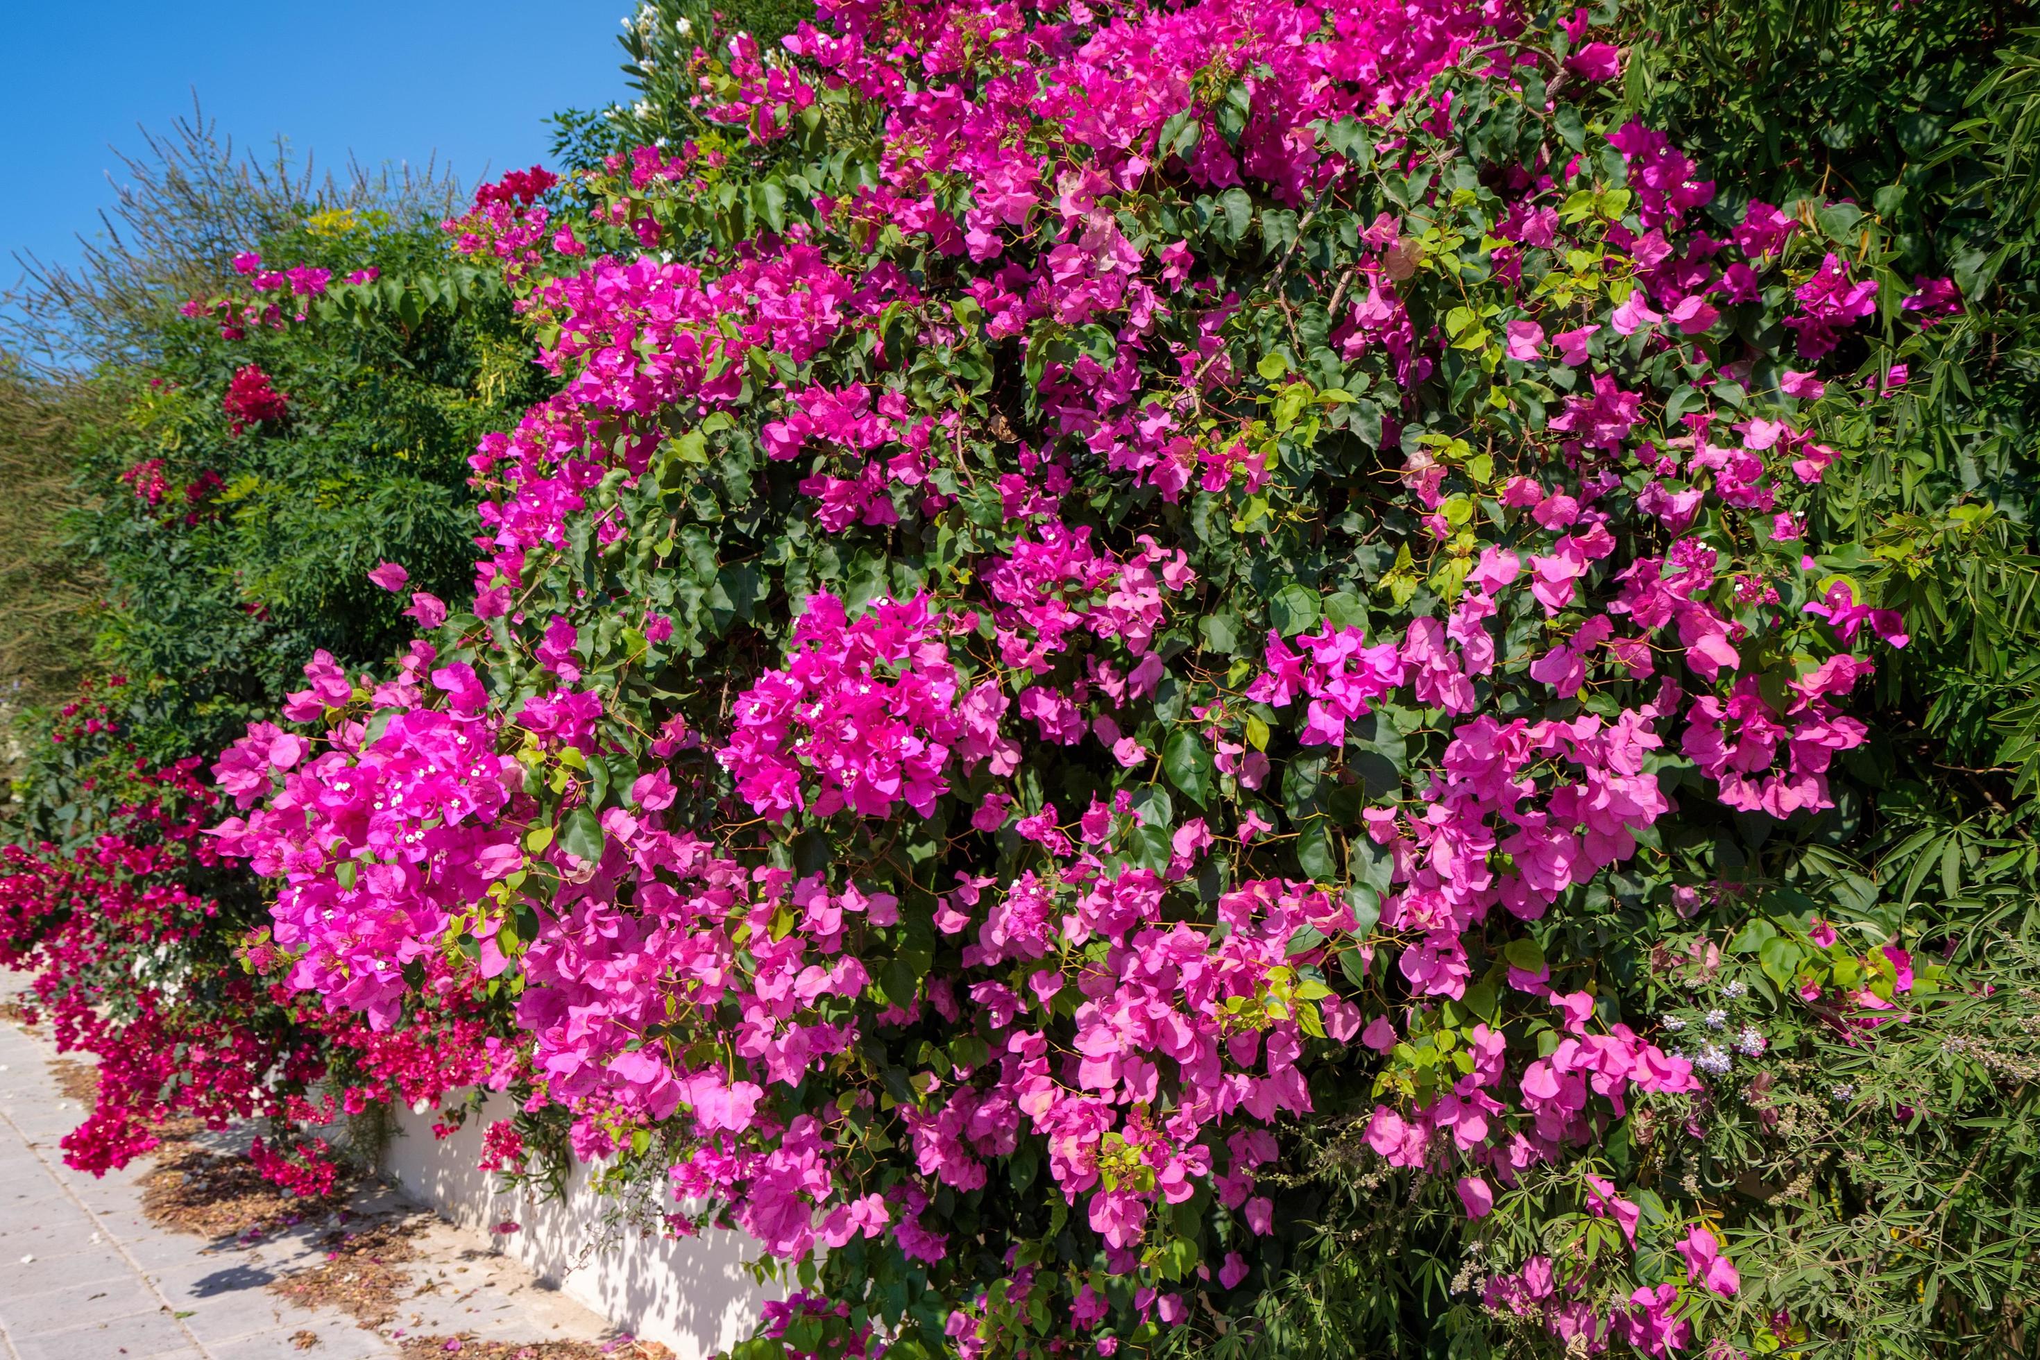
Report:
<svg viewBox="0 0 2040 1360"><path fill-rule="evenodd" d="M765 1354L1279 1352L1406 1223L1410 1350L1852 1344L1838 1148L2018 1077L1848 856L1909 636L1826 479L1960 296L1585 12L818 20L449 224L559 396L214 767L249 960L751 1234Z"/></svg>

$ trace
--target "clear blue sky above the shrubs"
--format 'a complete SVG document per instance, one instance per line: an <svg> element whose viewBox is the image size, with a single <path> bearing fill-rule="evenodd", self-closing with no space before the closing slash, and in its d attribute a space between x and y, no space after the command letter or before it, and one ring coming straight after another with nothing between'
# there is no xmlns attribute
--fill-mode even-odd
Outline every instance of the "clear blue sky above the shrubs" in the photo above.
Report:
<svg viewBox="0 0 2040 1360"><path fill-rule="evenodd" d="M624 94L632 0L20 0L4 6L0 290L14 253L71 263L108 171L192 92L235 145L277 133L314 163L410 161L469 184L545 159L545 116Z"/></svg>

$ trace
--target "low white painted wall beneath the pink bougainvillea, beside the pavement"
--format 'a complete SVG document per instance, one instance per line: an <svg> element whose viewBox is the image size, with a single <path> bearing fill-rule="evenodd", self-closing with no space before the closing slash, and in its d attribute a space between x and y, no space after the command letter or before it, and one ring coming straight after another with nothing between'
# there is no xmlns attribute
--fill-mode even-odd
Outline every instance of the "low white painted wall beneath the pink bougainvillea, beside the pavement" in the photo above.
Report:
<svg viewBox="0 0 2040 1360"><path fill-rule="evenodd" d="M671 1242L606 1227L608 1201L588 1189L585 1166L575 1166L565 1199L500 1193L498 1176L477 1162L481 1130L506 1113L504 1097L490 1097L479 1115L441 1142L432 1138L432 1113L400 1109L384 1172L461 1227L520 1223L520 1232L494 1236L504 1254L624 1331L671 1346L679 1360L706 1360L751 1336L759 1305L779 1295L759 1289L743 1268L759 1256L757 1242L730 1232ZM594 1250L600 1240L608 1246Z"/></svg>

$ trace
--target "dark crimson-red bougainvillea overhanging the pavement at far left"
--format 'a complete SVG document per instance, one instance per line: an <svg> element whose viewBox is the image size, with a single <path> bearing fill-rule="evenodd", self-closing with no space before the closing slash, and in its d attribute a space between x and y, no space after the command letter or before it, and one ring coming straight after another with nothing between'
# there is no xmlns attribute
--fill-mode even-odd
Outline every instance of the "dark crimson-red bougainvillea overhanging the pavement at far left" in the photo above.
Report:
<svg viewBox="0 0 2040 1360"><path fill-rule="evenodd" d="M88 685L51 728L71 789L57 840L0 846L0 966L33 975L24 1009L59 1050L98 1060L94 1107L63 1158L98 1174L155 1148L173 1119L257 1117L277 1179L324 1193L339 1162L306 1126L471 1085L486 1070L483 999L457 989L424 1022L377 1034L263 979L267 960L245 948L261 897L206 834L220 789L198 756L135 759L122 689L124 677Z"/></svg>

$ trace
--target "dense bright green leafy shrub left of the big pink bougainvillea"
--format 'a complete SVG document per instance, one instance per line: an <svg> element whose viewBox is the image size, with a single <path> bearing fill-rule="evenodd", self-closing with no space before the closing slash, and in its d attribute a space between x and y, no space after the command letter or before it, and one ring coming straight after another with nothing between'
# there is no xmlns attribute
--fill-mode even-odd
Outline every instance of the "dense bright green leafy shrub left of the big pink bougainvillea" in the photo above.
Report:
<svg viewBox="0 0 2040 1360"><path fill-rule="evenodd" d="M400 644L408 593L367 579L377 561L404 563L412 589L465 589L465 459L510 400L532 396L500 287L463 273L465 296L432 285L439 302L424 300L420 283L451 275L435 239L294 232L261 249L279 261L384 261L386 273L316 304L310 322L245 341L188 326L135 387L126 418L82 451L100 508L80 518L80 538L110 581L100 655L149 677L139 685L151 754L224 744L294 687L314 648L367 661ZM247 363L288 394L290 416L235 436L220 396ZM120 483L147 459L161 459L169 483L161 506ZM216 489L180 504L208 475Z"/></svg>

